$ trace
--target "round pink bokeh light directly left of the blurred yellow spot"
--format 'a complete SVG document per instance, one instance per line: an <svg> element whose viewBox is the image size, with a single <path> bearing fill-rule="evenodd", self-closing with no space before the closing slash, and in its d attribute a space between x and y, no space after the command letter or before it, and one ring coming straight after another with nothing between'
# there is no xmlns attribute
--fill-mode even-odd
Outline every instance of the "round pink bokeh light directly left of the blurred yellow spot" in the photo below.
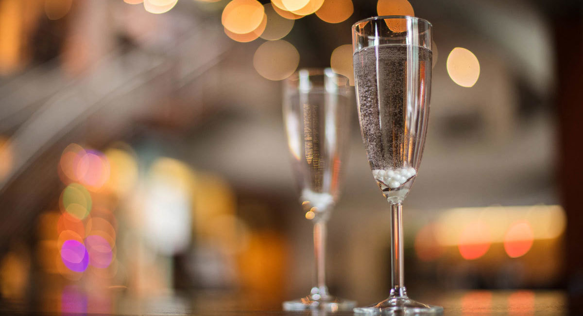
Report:
<svg viewBox="0 0 583 316"><path fill-rule="evenodd" d="M103 153L88 150L77 164L76 177L86 188L97 191L110 177L110 165Z"/></svg>

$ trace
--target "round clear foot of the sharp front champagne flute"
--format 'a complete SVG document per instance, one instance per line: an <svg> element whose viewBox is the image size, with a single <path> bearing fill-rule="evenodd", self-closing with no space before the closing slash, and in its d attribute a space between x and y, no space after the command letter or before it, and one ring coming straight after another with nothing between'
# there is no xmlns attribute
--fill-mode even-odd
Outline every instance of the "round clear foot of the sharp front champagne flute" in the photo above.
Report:
<svg viewBox="0 0 583 316"><path fill-rule="evenodd" d="M367 315L440 315L443 307L419 303L409 297L389 297L381 303L354 308L356 314Z"/></svg>

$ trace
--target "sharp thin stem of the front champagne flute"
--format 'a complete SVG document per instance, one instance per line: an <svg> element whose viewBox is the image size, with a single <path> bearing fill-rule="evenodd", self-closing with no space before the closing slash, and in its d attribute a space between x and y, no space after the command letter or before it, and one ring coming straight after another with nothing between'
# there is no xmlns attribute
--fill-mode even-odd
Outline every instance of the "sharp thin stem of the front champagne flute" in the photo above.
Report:
<svg viewBox="0 0 583 316"><path fill-rule="evenodd" d="M403 222L401 203L391 203L391 296L407 296L403 270Z"/></svg>

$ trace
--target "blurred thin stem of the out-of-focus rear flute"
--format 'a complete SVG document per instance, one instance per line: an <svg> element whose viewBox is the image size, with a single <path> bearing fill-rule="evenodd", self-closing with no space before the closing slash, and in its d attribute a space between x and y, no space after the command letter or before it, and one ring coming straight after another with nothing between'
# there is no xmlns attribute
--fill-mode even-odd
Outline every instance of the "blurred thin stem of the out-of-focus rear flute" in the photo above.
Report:
<svg viewBox="0 0 583 316"><path fill-rule="evenodd" d="M314 261L315 284L312 287L312 298L322 299L328 296L326 287L326 220L314 223ZM314 297L317 294L317 297Z"/></svg>

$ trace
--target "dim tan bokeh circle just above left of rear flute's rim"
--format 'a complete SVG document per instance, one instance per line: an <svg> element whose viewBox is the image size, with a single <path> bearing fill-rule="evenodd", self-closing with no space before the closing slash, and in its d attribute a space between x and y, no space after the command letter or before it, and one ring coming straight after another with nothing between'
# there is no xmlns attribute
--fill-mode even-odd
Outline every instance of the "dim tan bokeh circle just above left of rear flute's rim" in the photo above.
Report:
<svg viewBox="0 0 583 316"><path fill-rule="evenodd" d="M253 55L253 66L259 75L269 80L289 77L300 63L300 54L285 40L267 41Z"/></svg>

